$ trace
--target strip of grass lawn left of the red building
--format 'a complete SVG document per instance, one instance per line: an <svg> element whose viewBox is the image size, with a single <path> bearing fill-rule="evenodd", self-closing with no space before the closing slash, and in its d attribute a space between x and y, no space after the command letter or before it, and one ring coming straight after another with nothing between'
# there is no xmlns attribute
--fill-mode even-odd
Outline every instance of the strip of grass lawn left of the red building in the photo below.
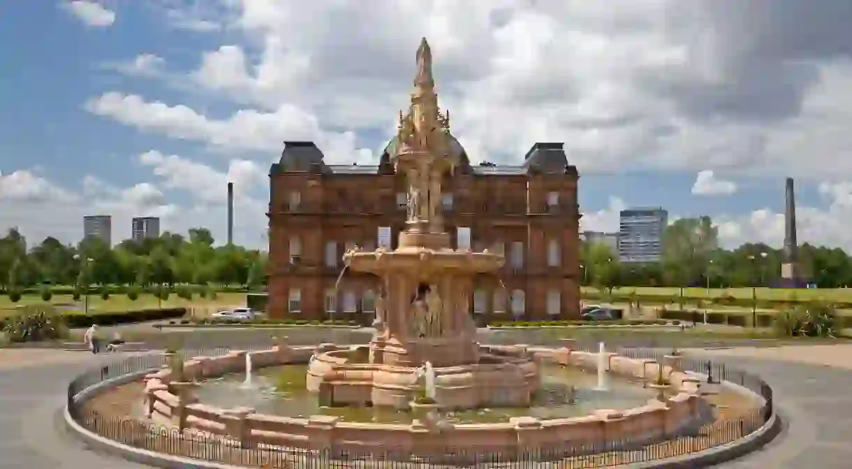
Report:
<svg viewBox="0 0 852 469"><path fill-rule="evenodd" d="M172 293L168 300L161 302L152 294L146 293L139 295L136 301L131 301L125 294L116 294L110 296L106 301L98 295L89 295L89 311L127 311L127 310L145 310L148 308L194 308L204 311L224 307L245 306L245 293L223 292L216 293L216 299L204 299L198 296L193 296L192 299L178 298ZM0 296L0 316L8 316L14 314L18 306L26 304L43 304L44 301L38 295L24 295L18 303L9 301L9 296ZM74 301L71 295L54 295L50 298L50 304L73 305L79 310L83 310L82 298L80 301ZM198 311L197 311L198 312ZM202 314L204 314L202 313Z"/></svg>

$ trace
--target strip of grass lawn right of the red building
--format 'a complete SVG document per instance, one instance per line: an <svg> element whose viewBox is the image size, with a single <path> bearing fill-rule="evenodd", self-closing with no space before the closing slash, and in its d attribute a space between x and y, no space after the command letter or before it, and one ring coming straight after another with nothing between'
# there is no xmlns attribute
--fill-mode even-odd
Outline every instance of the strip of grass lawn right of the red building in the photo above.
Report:
<svg viewBox="0 0 852 469"><path fill-rule="evenodd" d="M597 292L595 288L583 287L584 292ZM614 290L615 294L629 295L636 292L637 295L677 297L680 295L678 287L621 287ZM711 288L710 291L701 287L687 287L683 289L685 298L719 298L722 295L731 295L734 298L751 298L751 288ZM798 300L822 299L826 301L850 301L852 302L852 288L769 288L757 287L758 299L783 300L795 296Z"/></svg>

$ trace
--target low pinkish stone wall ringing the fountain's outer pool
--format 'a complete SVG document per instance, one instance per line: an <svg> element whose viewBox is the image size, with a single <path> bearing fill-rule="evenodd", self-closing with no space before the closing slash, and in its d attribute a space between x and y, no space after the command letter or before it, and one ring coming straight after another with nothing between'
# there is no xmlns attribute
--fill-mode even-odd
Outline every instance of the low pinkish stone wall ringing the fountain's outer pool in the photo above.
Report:
<svg viewBox="0 0 852 469"><path fill-rule="evenodd" d="M328 345L325 345L327 348ZM306 363L317 347L279 345L271 350L250 352L253 367ZM350 349L353 350L353 349ZM483 347L483 354L515 353L512 347ZM333 350L326 350L329 354ZM355 348L354 353L364 353ZM542 362L569 367L594 368L597 354L572 350L530 347ZM146 377L147 416L159 423L217 435L222 441L242 448L330 450L331 455L389 451L399 455L530 454L539 451L547 458L576 455L578 448L604 448L604 444L630 441L647 444L674 437L706 423L701 384L680 371L678 360L658 364L625 356L607 356L608 373L625 379L653 380L662 373L671 389L659 399L648 399L634 408L596 409L588 415L570 418L538 419L518 416L497 423L452 423L430 418L406 424L351 422L334 415L288 417L259 414L253 408L216 408L199 402L193 388L197 382L216 379L245 370L245 351L226 356L194 357L181 367L167 367ZM334 356L333 354L331 356ZM175 369L173 369L175 368ZM365 371L365 377L374 371ZM353 391L361 396L362 392ZM439 391L441 392L441 391ZM564 453L564 454L562 454ZM544 457L544 456L543 456Z"/></svg>

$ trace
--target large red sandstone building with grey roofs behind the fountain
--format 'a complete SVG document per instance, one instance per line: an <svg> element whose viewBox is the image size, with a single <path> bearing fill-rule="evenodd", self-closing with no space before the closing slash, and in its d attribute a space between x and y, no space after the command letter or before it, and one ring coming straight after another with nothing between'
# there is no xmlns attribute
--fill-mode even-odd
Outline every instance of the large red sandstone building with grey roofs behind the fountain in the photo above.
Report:
<svg viewBox="0 0 852 469"><path fill-rule="evenodd" d="M562 144L536 143L523 165L503 166L471 165L452 143L462 165L442 191L453 247L506 258L499 278L477 279L470 313L481 321L579 316L578 174ZM377 166L337 166L313 142L285 142L269 173L270 317L371 321L376 278L344 273L335 285L348 247L396 247L406 184L390 164L394 150L395 139Z"/></svg>

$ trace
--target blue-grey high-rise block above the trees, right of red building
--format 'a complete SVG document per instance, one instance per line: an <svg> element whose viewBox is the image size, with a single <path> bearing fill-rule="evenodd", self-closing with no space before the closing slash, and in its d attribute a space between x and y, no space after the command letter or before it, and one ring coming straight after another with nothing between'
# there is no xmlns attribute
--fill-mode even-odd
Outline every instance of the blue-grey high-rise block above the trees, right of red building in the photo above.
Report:
<svg viewBox="0 0 852 469"><path fill-rule="evenodd" d="M655 263L663 258L663 233L669 212L660 207L632 208L620 213L619 261Z"/></svg>

